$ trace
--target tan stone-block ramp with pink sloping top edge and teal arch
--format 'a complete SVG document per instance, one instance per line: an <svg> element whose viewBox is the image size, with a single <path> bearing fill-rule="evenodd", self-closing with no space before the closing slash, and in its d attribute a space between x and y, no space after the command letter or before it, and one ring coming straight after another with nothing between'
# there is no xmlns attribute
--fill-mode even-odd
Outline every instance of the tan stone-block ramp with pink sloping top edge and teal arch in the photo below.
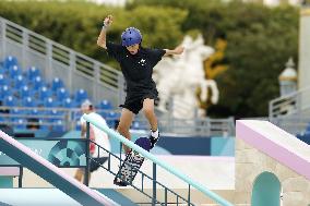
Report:
<svg viewBox="0 0 310 206"><path fill-rule="evenodd" d="M267 121L236 129L235 203L310 205L310 145Z"/></svg>

